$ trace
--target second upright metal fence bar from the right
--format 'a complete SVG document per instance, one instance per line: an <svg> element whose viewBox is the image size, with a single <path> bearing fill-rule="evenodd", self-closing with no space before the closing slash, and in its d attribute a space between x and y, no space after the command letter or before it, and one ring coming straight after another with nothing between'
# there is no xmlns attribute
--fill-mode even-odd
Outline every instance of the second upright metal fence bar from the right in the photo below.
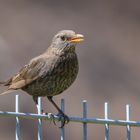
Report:
<svg viewBox="0 0 140 140"><path fill-rule="evenodd" d="M104 117L108 120L108 103L104 104ZM105 140L109 140L109 124L105 124Z"/></svg>

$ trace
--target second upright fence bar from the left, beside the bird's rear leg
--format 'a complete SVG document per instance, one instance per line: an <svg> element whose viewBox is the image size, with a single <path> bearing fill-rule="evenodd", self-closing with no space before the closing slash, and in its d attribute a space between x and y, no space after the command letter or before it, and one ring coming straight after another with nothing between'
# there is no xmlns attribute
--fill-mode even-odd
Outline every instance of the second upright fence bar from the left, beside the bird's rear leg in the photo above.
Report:
<svg viewBox="0 0 140 140"><path fill-rule="evenodd" d="M38 115L40 115L41 111L42 111L42 99L41 99L41 97L38 98L37 109L38 109ZM38 118L38 140L43 140L42 133L43 133L42 132L42 119Z"/></svg>

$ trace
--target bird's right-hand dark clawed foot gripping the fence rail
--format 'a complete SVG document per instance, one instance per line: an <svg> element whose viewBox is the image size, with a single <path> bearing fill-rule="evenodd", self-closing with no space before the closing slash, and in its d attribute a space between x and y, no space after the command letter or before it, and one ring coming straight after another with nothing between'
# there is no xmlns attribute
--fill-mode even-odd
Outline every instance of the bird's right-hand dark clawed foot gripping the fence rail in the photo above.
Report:
<svg viewBox="0 0 140 140"><path fill-rule="evenodd" d="M65 126L65 124L69 123L69 117L67 115L65 115L64 113L59 113L57 114L57 116L59 117L58 121L61 121L61 126L59 128L63 128Z"/></svg>

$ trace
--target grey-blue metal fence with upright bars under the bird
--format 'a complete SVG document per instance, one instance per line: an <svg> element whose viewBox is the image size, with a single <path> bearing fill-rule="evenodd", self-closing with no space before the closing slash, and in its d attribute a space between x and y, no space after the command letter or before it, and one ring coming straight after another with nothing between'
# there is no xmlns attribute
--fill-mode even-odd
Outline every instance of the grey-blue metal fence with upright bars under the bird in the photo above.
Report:
<svg viewBox="0 0 140 140"><path fill-rule="evenodd" d="M38 114L33 113L21 113L19 111L19 95L15 97L15 112L3 112L0 111L0 117L14 117L16 119L15 127L15 140L20 140L20 118L26 119L38 119L38 140L43 140L42 135L42 119L50 119L47 115L41 114L42 101L38 98ZM64 99L61 99L61 109L65 110ZM59 120L58 116L54 116L55 120ZM83 117L69 117L70 122L82 123L83 124L83 140L88 140L88 123L101 124L105 126L105 140L110 139L109 126L118 125L126 127L126 139L131 140L131 128L140 127L140 122L130 120L130 105L126 105L126 119L125 120L113 120L108 116L108 103L104 104L104 118L88 118L87 117L87 102L83 101ZM65 127L60 129L61 137L60 140L65 140ZM58 138L59 139L59 138Z"/></svg>

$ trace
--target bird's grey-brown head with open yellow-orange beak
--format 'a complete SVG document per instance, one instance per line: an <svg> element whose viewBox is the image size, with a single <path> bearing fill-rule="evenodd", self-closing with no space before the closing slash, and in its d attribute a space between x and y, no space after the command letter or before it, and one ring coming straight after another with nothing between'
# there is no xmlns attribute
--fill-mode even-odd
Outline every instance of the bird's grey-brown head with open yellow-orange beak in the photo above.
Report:
<svg viewBox="0 0 140 140"><path fill-rule="evenodd" d="M54 36L51 46L62 51L75 50L76 44L83 40L84 36L81 34L76 34L72 30L62 30Z"/></svg>

